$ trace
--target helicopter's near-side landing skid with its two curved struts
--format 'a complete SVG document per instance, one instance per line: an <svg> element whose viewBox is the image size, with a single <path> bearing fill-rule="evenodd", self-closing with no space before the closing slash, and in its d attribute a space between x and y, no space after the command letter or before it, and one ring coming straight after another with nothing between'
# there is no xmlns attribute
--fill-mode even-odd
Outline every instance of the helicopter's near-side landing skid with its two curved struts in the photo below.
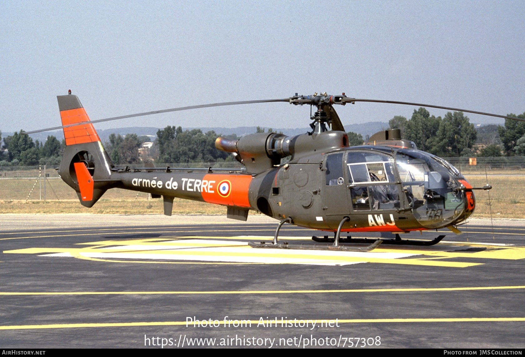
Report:
<svg viewBox="0 0 525 357"><path fill-rule="evenodd" d="M274 241L271 243L266 242L260 242L260 243L253 243L248 242L248 245L253 248L280 248L280 249L298 249L298 250L310 250L310 251L318 251L318 250L329 250L329 251L345 251L345 252L370 252L371 250L374 250L377 248L381 243L383 243L382 240L375 240L371 241L369 246L366 247L349 247L344 245L339 245L340 240L339 236L341 235L341 228L343 227L343 224L347 221L350 221L349 217L343 218L343 220L339 223L339 227L337 229L337 233L335 233L335 238L331 240L330 243L333 243L332 245L294 245L294 244L288 244L288 242L283 242L282 244L277 242L277 236L279 235L279 230L281 229L281 226L285 224L286 222L292 223L293 220L291 217L288 217L286 219L283 219L279 222L277 225L277 230L275 231ZM326 242L328 241L328 236L325 236L327 238ZM313 239L314 237L312 237ZM325 241L321 241L324 243ZM343 239L341 241L342 243L349 243L348 239ZM352 241L353 242L353 241ZM361 242L360 242L361 243Z"/></svg>

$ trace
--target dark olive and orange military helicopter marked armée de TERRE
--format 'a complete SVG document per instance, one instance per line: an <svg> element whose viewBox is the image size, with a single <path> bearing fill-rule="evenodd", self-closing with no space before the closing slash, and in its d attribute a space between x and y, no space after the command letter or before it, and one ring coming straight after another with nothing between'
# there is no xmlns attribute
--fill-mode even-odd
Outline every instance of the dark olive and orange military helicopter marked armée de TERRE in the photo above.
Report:
<svg viewBox="0 0 525 357"><path fill-rule="evenodd" d="M175 197L224 205L228 218L242 221L247 220L249 210L256 210L279 220L272 242L250 242L263 248L370 251L381 243L436 244L444 235L420 241L401 239L399 234L441 228L459 233L456 226L475 209L473 190L491 188L472 187L453 165L402 139L399 129L376 133L366 145L350 147L334 105L408 104L511 118L428 104L355 99L345 93L296 93L285 99L202 104L90 121L71 91L57 99L62 126L27 134L64 129L66 149L58 172L77 192L82 205L92 207L108 189L122 188L162 197L165 215L172 214ZM240 170L119 168L111 162L93 127L97 122L156 113L265 102L316 107L311 131L292 137L277 133L250 134L238 140L218 137L216 148L234 154L243 164ZM289 161L281 164L281 159L288 157ZM284 223L334 232L333 238L312 237L332 244L281 244L278 234ZM341 239L341 232L391 232L395 239ZM356 248L342 243L371 244Z"/></svg>

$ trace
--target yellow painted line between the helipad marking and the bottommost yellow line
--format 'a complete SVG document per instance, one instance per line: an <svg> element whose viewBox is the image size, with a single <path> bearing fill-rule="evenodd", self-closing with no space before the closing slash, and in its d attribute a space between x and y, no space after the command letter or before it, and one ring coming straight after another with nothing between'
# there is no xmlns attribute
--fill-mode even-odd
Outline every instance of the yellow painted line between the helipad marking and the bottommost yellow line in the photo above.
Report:
<svg viewBox="0 0 525 357"><path fill-rule="evenodd" d="M205 294L327 294L327 293L405 293L412 291L469 291L469 290L510 290L525 289L516 286L467 286L455 288L390 288L390 289L338 289L338 290L217 290L217 291L47 291L47 292L0 292L2 295L205 295Z"/></svg>

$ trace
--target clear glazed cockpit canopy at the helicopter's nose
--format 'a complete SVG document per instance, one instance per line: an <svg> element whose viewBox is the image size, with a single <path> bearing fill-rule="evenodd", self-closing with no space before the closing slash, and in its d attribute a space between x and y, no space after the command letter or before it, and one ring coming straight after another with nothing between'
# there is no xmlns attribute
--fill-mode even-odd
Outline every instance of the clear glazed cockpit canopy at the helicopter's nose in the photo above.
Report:
<svg viewBox="0 0 525 357"><path fill-rule="evenodd" d="M470 214L458 182L464 177L439 157L414 149L365 147L345 150L345 155L354 211L408 209L430 229L457 223ZM330 163L331 157L339 164ZM343 153L327 158L326 185L338 184L338 178L343 177L338 172L341 161Z"/></svg>

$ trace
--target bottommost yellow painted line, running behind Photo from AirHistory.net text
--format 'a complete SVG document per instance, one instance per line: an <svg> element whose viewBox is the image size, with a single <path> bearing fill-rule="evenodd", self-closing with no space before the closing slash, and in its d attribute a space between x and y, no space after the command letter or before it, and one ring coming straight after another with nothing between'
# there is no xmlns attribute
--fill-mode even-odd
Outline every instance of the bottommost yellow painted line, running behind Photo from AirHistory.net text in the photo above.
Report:
<svg viewBox="0 0 525 357"><path fill-rule="evenodd" d="M232 318L233 320L233 318ZM307 319L300 319L306 321ZM299 319L297 321L300 321ZM309 318L308 320L312 320ZM314 321L334 319L313 319ZM219 320L220 321L220 320ZM240 320L239 320L240 321ZM278 322L280 320L277 320ZM289 320L295 321L295 320ZM409 322L520 322L525 317L496 317L496 318L421 318L421 319L350 319L341 320L339 323L409 323ZM243 320L243 323L257 326L260 320ZM265 320L265 324L275 323L275 320ZM160 322L106 322L106 323L55 323L46 325L13 325L0 326L0 330L31 330L31 329L71 329L87 327L134 327L134 326L186 326L186 321L160 321Z"/></svg>

